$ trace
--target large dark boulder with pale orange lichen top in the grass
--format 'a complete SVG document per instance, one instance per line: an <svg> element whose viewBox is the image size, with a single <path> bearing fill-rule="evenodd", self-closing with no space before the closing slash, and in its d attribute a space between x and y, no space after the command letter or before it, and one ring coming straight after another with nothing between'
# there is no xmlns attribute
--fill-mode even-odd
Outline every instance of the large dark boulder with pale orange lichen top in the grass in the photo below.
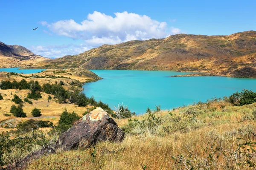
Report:
<svg viewBox="0 0 256 170"><path fill-rule="evenodd" d="M99 141L121 142L124 132L102 108L84 115L57 140L55 148L71 150L87 147Z"/></svg>

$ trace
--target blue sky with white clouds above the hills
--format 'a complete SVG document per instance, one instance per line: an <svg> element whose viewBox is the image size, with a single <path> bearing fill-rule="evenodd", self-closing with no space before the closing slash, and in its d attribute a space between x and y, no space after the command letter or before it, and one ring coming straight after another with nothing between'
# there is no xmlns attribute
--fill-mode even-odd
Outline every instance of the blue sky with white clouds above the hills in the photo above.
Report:
<svg viewBox="0 0 256 170"><path fill-rule="evenodd" d="M128 40L256 30L255 0L1 0L0 6L1 42L53 58Z"/></svg>

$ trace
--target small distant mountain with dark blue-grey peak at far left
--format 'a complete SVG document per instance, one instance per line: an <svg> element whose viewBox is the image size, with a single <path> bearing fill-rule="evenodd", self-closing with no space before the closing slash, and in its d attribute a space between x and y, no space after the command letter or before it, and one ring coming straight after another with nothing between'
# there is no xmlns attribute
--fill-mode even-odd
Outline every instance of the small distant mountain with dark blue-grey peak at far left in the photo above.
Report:
<svg viewBox="0 0 256 170"><path fill-rule="evenodd" d="M0 68L9 68L34 65L37 62L49 59L35 55L23 46L6 45L5 43L0 42L0 60Z"/></svg>

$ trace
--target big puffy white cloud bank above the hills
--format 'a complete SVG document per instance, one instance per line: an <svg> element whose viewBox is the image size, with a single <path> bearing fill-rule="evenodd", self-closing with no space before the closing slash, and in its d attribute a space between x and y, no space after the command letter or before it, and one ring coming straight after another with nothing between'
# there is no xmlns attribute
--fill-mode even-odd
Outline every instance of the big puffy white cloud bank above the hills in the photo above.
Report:
<svg viewBox="0 0 256 170"><path fill-rule="evenodd" d="M176 19L171 22L175 21ZM55 23L47 23L47 21L41 21L40 23L48 28L44 30L46 34L57 34L72 39L84 40L84 45L80 47L69 45L69 47L62 47L61 49L58 47L58 50L56 50L57 47L53 46L31 47L35 54L38 52L38 54L42 54L45 57L62 57L61 55L63 54L72 55L75 51L81 53L85 51L84 49L88 50L103 44L166 38L181 32L179 28L169 27L166 22L153 20L146 15L128 13L127 11L116 12L114 17L94 11L92 14L88 14L87 19L81 23L77 23L72 19L60 20Z"/></svg>

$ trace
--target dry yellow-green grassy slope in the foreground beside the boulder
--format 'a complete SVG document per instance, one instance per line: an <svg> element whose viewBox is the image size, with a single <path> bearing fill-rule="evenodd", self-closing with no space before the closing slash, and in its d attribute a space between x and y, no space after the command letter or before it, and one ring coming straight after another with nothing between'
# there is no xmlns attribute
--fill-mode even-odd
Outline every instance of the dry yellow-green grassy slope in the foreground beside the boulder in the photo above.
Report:
<svg viewBox="0 0 256 170"><path fill-rule="evenodd" d="M253 169L246 161L255 163L256 152L249 145L239 147L239 144L256 142L255 108L256 103L234 107L222 101L177 108L171 111L172 115L160 111L156 113L162 121L160 124L130 128L132 131L121 143L96 144L95 158L93 148L80 148L44 156L33 161L28 169L140 170L142 165L148 170L192 166L194 169ZM147 122L148 117L145 114L133 119ZM128 119L116 122L127 130ZM256 149L255 145L253 148ZM244 151L249 157L243 155Z"/></svg>

